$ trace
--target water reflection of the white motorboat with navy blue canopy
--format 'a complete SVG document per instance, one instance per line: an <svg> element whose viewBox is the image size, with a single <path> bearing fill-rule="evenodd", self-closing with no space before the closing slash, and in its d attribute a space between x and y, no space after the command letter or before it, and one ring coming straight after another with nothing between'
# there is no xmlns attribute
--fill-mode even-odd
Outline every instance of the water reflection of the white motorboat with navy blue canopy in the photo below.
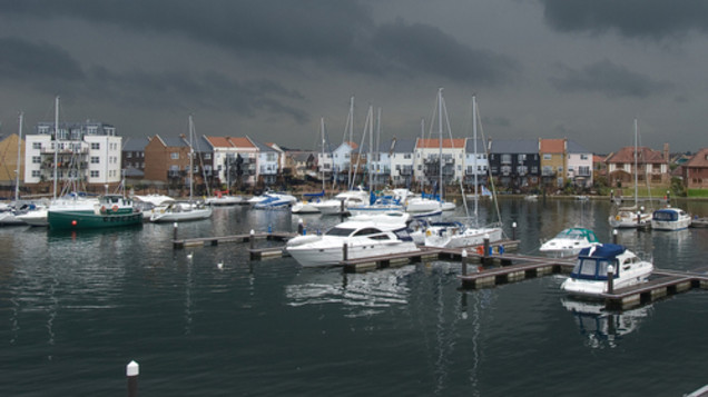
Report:
<svg viewBox="0 0 708 397"><path fill-rule="evenodd" d="M608 311L602 302L562 298L563 307L572 312L580 334L586 336L584 345L598 348L614 348L618 343L637 329L652 312L652 305L625 311Z"/></svg>

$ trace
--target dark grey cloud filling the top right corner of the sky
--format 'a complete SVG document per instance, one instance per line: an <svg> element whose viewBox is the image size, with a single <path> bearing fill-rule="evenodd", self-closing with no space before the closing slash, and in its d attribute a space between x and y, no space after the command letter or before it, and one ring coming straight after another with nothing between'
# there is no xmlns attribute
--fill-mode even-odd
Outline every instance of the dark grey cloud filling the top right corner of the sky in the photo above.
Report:
<svg viewBox="0 0 708 397"><path fill-rule="evenodd" d="M702 0L540 0L555 30L604 32L662 39L690 30L708 32L708 2Z"/></svg>

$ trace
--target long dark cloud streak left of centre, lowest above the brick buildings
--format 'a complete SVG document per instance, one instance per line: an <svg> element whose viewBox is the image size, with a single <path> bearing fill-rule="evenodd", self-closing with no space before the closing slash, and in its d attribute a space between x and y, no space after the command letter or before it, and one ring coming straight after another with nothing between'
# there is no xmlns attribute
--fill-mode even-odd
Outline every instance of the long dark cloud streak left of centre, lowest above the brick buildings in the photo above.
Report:
<svg viewBox="0 0 708 397"><path fill-rule="evenodd" d="M305 111L285 103L301 101L303 96L271 80L236 81L217 72L116 73L102 67L92 68L89 76L88 91L111 96L126 106L228 110L250 117L263 110L299 123L309 120Z"/></svg>

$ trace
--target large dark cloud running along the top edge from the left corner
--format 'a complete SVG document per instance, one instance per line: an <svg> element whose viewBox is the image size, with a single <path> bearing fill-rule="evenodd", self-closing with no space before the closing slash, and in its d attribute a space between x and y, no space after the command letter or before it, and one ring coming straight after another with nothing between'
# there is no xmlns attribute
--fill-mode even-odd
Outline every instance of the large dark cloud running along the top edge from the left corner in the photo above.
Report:
<svg viewBox="0 0 708 397"><path fill-rule="evenodd" d="M238 51L331 57L346 51L371 11L354 1L193 0L17 1L0 12L38 18L70 17L129 30L180 33Z"/></svg>

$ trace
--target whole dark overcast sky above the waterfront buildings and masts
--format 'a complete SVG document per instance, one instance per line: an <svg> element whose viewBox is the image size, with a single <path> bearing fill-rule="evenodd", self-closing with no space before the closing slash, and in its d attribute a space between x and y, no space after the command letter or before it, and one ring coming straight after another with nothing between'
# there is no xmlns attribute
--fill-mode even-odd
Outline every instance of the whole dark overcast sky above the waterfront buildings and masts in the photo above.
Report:
<svg viewBox="0 0 708 397"><path fill-rule="evenodd" d="M444 88L455 138L708 147L708 2L696 0L0 0L0 131L111 123L313 149L355 98L415 138Z"/></svg>

